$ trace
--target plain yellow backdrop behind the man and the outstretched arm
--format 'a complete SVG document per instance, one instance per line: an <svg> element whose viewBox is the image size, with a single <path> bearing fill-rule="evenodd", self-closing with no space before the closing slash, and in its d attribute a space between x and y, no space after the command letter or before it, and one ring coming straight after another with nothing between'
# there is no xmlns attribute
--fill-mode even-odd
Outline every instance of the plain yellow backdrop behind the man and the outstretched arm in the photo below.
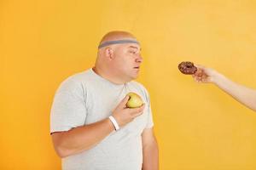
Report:
<svg viewBox="0 0 256 170"><path fill-rule="evenodd" d="M60 169L49 136L56 88L94 65L108 31L142 43L162 170L256 169L256 114L183 60L256 88L256 1L0 1L0 169Z"/></svg>

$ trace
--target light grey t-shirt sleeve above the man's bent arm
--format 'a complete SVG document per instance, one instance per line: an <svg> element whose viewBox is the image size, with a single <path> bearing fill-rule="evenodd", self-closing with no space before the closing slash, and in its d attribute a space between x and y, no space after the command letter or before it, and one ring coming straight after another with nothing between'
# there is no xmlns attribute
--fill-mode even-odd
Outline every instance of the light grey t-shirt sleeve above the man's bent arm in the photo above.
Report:
<svg viewBox="0 0 256 170"><path fill-rule="evenodd" d="M86 92L80 82L67 78L57 89L50 111L50 133L83 126Z"/></svg>

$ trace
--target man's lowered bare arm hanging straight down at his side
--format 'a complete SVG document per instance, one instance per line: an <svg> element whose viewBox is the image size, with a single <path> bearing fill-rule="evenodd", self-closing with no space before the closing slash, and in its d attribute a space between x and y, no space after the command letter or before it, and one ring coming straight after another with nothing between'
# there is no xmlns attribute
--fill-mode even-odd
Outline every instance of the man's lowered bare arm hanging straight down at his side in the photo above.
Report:
<svg viewBox="0 0 256 170"><path fill-rule="evenodd" d="M154 137L153 128L146 128L143 137L143 170L159 169L158 144Z"/></svg>

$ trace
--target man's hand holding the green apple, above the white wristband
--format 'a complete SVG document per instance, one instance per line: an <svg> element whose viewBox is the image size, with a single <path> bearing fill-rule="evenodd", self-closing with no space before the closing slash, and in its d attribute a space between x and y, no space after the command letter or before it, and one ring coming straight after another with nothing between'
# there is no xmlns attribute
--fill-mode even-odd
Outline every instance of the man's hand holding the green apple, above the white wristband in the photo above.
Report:
<svg viewBox="0 0 256 170"><path fill-rule="evenodd" d="M113 110L113 117L116 122L118 122L119 127L125 126L128 122L131 122L137 116L143 114L145 105L136 108L130 109L126 107L126 103L129 100L129 96L125 96L124 99L119 103L119 105Z"/></svg>

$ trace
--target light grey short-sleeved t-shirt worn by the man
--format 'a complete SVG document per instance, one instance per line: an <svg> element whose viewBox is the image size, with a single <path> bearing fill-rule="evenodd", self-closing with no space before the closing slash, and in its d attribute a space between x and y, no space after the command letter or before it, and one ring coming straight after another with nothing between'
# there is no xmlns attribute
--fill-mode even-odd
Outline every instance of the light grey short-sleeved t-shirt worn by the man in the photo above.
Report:
<svg viewBox="0 0 256 170"><path fill-rule="evenodd" d="M142 133L154 123L148 92L138 82L117 85L92 69L68 77L55 93L50 113L50 133L68 131L107 118L130 92L142 97L145 103L143 114L110 133L90 150L62 158L63 170L142 169Z"/></svg>

